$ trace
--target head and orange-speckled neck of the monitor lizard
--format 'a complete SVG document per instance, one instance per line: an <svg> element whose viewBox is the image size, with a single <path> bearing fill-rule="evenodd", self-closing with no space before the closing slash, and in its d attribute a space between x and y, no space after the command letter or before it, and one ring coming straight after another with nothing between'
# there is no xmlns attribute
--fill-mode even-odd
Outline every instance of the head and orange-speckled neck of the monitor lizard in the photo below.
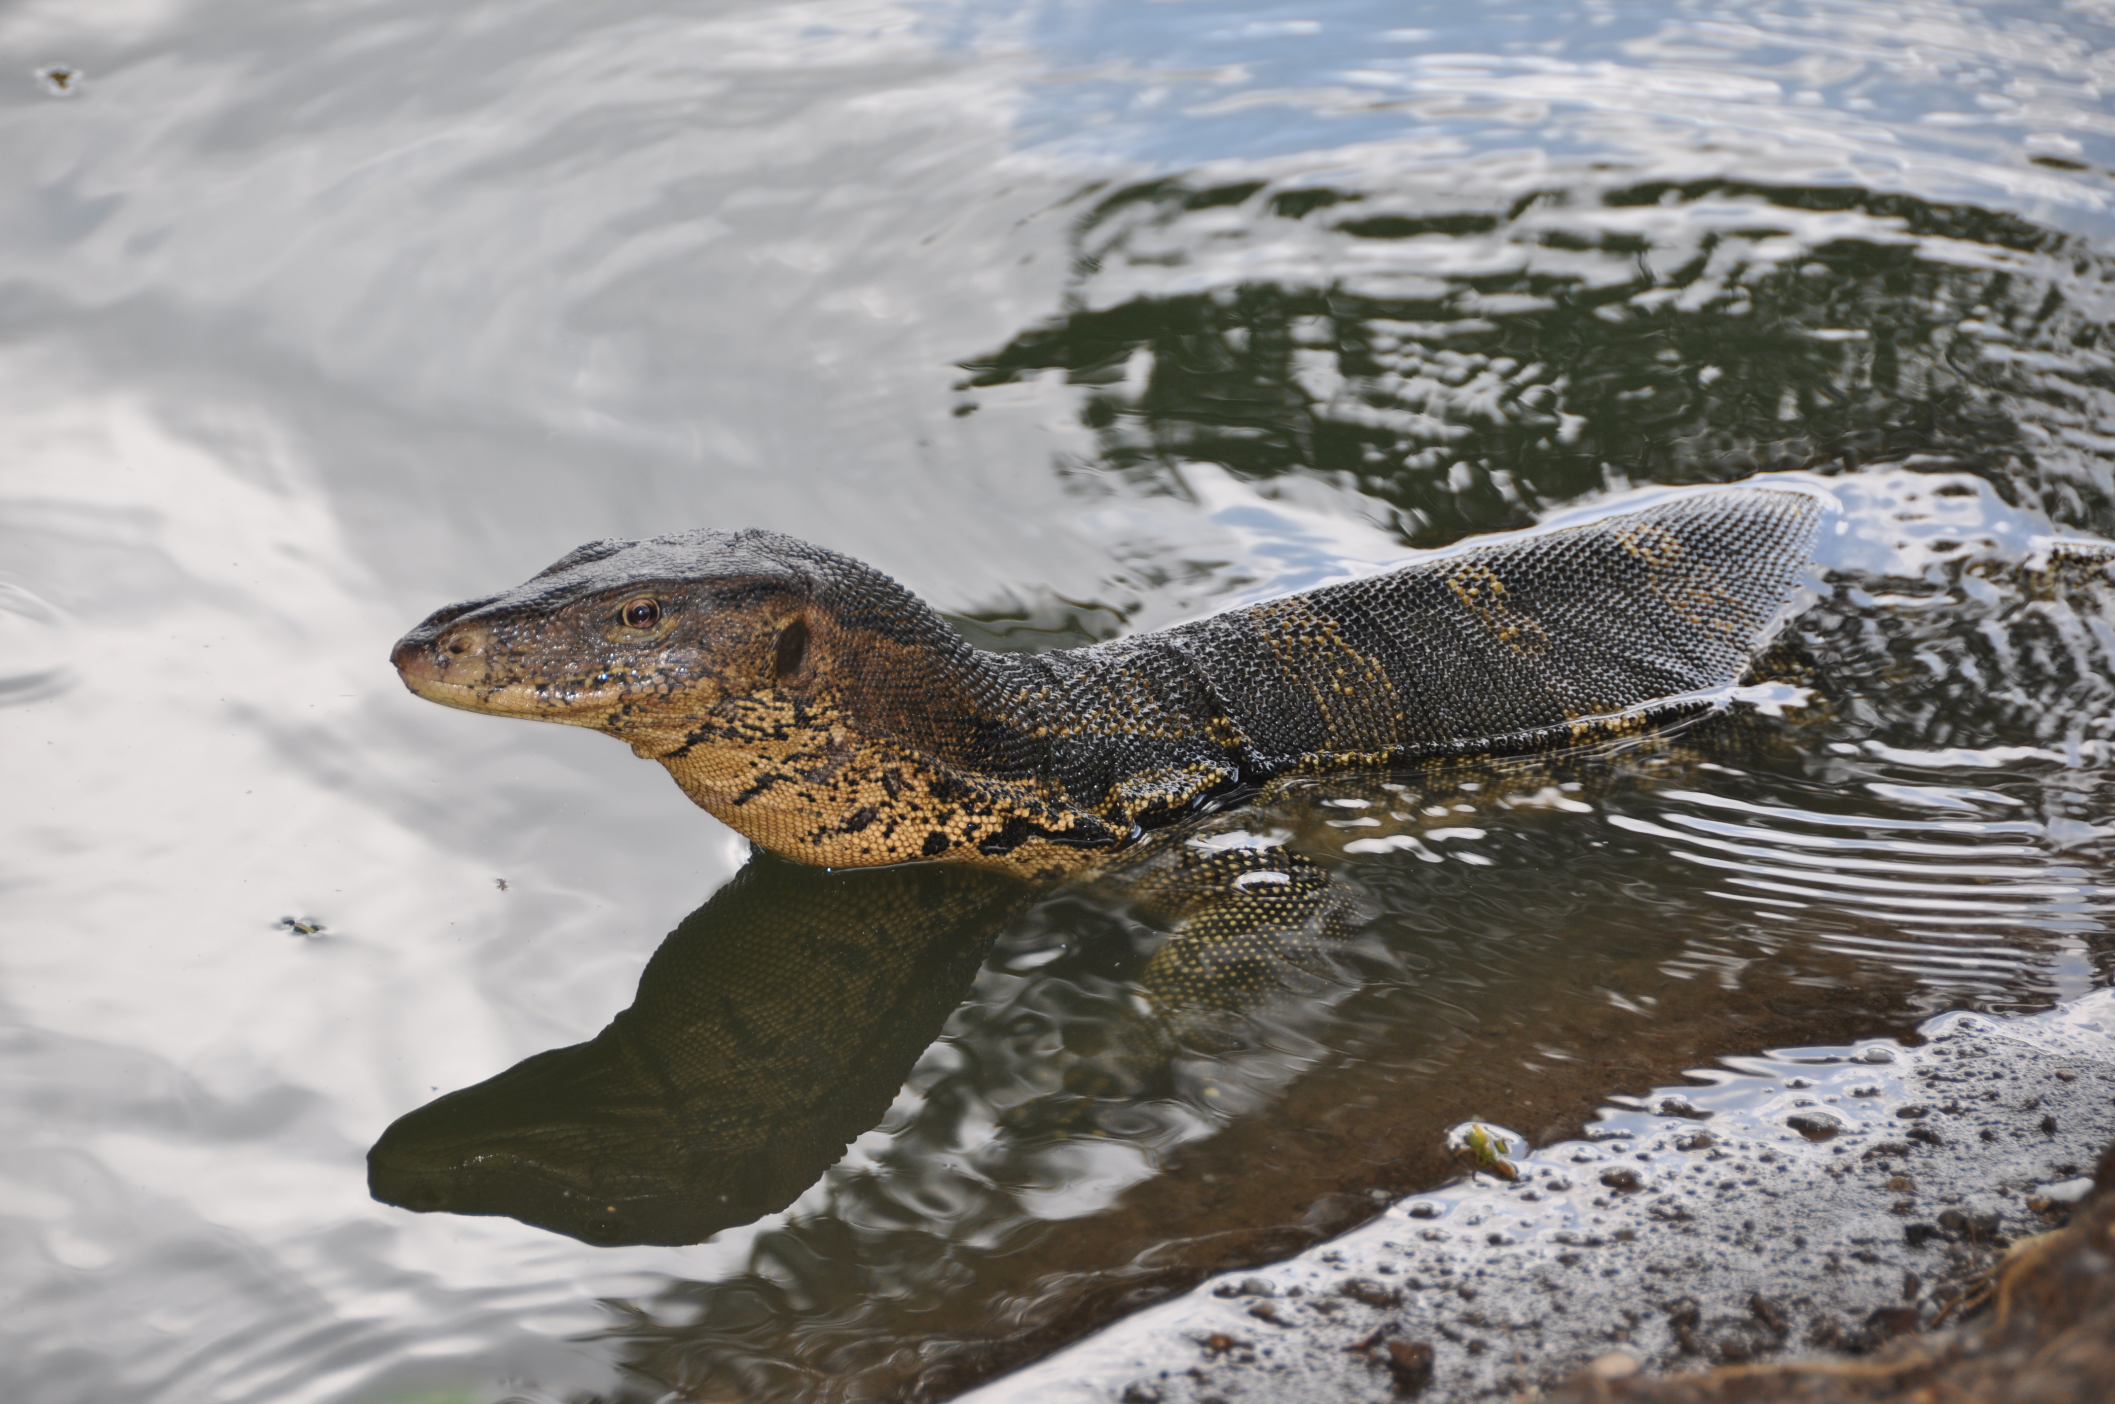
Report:
<svg viewBox="0 0 2115 1404"><path fill-rule="evenodd" d="M880 571L793 537L592 541L434 611L391 662L444 706L607 732L804 863L967 854L1005 823L941 774L1000 751L988 655Z"/></svg>

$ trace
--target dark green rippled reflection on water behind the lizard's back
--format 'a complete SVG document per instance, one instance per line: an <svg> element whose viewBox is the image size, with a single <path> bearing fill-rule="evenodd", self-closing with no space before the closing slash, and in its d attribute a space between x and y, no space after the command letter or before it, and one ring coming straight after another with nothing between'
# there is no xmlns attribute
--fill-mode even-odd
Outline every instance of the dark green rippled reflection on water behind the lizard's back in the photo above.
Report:
<svg viewBox="0 0 2115 1404"><path fill-rule="evenodd" d="M1453 211L1161 180L1093 205L1074 256L1074 307L964 362L964 389L1062 370L1100 467L1337 476L1432 546L1612 474L1937 455L2115 531L2104 452L2079 438L2115 410L2115 266L2016 216L1724 180ZM1235 256L1311 281L1244 279ZM1125 292L1218 258L1210 292Z"/></svg>

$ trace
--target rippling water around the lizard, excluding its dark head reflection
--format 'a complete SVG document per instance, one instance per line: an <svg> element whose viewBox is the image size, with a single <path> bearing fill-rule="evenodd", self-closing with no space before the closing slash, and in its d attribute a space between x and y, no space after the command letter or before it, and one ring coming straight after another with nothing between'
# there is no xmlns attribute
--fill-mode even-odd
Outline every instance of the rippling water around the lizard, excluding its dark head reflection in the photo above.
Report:
<svg viewBox="0 0 2115 1404"><path fill-rule="evenodd" d="M2115 634L2022 562L2115 535L2109 17L1455 8L0 15L6 1391L943 1393L1464 1116L2107 983ZM1121 892L941 890L789 1209L368 1199L757 928L656 770L402 694L434 605L757 524L1064 647L1755 472L1832 495L1810 702L1222 816L1362 918L1220 1042L1108 1055Z"/></svg>

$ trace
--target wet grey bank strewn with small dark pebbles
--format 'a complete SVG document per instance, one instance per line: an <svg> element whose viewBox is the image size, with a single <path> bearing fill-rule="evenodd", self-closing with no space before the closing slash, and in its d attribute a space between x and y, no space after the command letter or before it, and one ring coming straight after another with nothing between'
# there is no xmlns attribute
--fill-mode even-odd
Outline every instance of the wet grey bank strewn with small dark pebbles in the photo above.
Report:
<svg viewBox="0 0 2115 1404"><path fill-rule="evenodd" d="M1747 1391L1770 1387L1766 1362L1952 1349L1927 1332L2083 1203L2111 1140L2104 992L2035 1019L1954 1013L1912 1040L1730 1057L1612 1100L1584 1138L1512 1157L1512 1182L1415 1195L964 1398L1832 1398ZM1648 1393L1709 1366L1743 1372ZM1734 1379L1741 1393L1694 1393Z"/></svg>

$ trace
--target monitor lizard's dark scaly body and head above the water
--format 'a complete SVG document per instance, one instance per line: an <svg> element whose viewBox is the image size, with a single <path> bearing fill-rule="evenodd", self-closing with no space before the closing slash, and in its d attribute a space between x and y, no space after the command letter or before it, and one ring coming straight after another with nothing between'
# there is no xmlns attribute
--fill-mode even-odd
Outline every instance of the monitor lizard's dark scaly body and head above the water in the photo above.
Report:
<svg viewBox="0 0 2115 1404"><path fill-rule="evenodd" d="M1739 681L1813 497L1728 488L1066 653L986 653L764 531L582 546L442 609L419 696L607 732L795 863L1058 878L1294 772L1624 736Z"/></svg>

